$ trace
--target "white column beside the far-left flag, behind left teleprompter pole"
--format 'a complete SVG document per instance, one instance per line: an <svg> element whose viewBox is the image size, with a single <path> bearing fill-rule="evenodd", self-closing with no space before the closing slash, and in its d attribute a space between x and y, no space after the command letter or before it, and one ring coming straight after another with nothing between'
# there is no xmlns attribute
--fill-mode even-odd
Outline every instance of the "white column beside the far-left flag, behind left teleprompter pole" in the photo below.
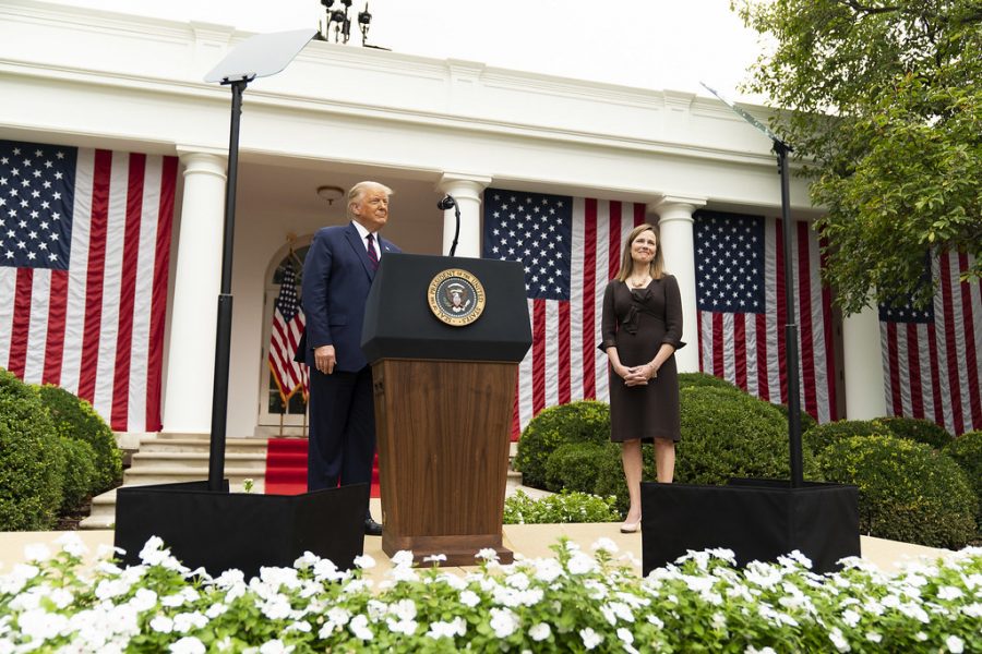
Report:
<svg viewBox="0 0 982 654"><path fill-rule="evenodd" d="M226 158L181 152L184 193L170 317L164 431L212 429L215 322L221 284Z"/></svg>

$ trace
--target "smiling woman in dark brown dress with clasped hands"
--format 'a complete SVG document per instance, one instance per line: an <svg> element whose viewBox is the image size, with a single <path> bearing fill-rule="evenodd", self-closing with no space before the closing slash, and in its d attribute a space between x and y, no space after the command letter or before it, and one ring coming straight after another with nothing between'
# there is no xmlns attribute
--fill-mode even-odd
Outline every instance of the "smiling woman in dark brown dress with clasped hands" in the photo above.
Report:
<svg viewBox="0 0 982 654"><path fill-rule="evenodd" d="M658 229L627 234L621 270L603 292L600 349L610 360L610 439L621 444L631 506L621 531L640 525L642 441L655 443L659 482L669 484L681 438L674 352L682 342L682 295L664 271Z"/></svg>

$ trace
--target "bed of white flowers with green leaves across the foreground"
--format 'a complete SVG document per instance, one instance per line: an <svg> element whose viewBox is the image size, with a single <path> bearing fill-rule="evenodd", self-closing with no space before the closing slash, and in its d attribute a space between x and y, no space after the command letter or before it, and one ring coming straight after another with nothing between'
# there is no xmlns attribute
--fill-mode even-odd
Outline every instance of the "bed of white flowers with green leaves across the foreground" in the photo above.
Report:
<svg viewBox="0 0 982 654"><path fill-rule="evenodd" d="M604 538L463 576L393 557L386 579L308 555L246 580L180 566L82 564L74 534L0 578L0 652L972 652L982 651L982 549L884 573L860 559L817 576L801 555L734 569L694 553L645 579ZM374 565L369 557L361 568Z"/></svg>

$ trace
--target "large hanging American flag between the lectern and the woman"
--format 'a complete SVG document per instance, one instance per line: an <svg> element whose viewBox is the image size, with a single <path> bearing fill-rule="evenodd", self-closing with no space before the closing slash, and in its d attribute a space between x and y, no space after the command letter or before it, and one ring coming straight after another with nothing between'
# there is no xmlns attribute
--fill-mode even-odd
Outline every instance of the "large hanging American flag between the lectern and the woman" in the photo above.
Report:
<svg viewBox="0 0 982 654"><path fill-rule="evenodd" d="M603 289L645 205L488 189L483 256L522 262L532 347L518 366L512 437L546 407L608 399Z"/></svg>

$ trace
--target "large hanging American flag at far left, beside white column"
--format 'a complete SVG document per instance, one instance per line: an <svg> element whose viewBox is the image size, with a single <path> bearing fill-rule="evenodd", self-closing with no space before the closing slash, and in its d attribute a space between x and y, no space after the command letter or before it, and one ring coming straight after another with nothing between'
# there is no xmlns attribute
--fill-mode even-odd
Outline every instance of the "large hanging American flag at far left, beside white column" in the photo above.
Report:
<svg viewBox="0 0 982 654"><path fill-rule="evenodd" d="M0 366L160 428L177 158L0 141Z"/></svg>

